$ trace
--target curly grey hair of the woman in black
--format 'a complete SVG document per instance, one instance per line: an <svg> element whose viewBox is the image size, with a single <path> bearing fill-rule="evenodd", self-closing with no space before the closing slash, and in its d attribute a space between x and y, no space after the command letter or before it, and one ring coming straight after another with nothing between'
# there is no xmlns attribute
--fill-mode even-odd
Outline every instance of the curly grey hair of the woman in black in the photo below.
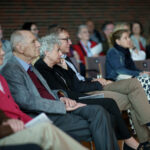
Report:
<svg viewBox="0 0 150 150"><path fill-rule="evenodd" d="M44 56L45 51L52 51L55 44L60 45L60 40L58 36L54 33L44 36L40 39L41 47L40 54Z"/></svg>

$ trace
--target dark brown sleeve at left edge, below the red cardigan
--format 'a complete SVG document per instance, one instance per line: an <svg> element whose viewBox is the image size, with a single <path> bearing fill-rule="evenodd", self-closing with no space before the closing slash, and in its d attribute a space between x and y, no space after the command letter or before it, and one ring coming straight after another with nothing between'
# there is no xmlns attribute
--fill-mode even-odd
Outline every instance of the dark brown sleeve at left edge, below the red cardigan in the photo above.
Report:
<svg viewBox="0 0 150 150"><path fill-rule="evenodd" d="M8 136L13 133L13 130L9 125L2 125L4 121L7 121L9 118L0 110L0 138Z"/></svg>

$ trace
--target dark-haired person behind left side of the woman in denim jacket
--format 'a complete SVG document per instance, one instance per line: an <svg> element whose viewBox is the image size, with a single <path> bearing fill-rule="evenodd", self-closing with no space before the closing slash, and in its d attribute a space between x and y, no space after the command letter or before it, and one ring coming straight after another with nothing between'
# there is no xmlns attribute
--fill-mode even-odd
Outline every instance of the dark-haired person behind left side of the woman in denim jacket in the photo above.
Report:
<svg viewBox="0 0 150 150"><path fill-rule="evenodd" d="M110 47L112 47L110 42L110 36L114 30L114 23L111 21L106 21L102 24L101 27L102 33L102 46L103 46L103 53L106 55L107 51Z"/></svg>

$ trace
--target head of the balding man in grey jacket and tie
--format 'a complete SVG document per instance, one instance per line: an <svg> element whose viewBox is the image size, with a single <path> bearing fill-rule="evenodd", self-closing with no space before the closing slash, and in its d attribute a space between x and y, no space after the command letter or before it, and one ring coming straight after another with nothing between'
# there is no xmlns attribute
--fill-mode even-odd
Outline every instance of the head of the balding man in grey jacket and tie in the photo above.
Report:
<svg viewBox="0 0 150 150"><path fill-rule="evenodd" d="M15 31L10 40L14 55L24 61L29 62L39 55L40 43L30 31Z"/></svg>

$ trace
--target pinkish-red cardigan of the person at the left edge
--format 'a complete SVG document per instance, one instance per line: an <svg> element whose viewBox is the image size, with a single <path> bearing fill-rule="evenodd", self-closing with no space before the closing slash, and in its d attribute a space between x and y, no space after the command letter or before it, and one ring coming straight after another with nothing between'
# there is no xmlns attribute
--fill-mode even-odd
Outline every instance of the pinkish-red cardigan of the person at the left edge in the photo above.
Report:
<svg viewBox="0 0 150 150"><path fill-rule="evenodd" d="M32 120L32 118L25 113L23 113L19 106L15 103L6 80L0 75L0 82L2 84L2 87L5 91L3 93L0 90L0 110L2 110L6 116L13 118L13 119L20 119L24 123Z"/></svg>

